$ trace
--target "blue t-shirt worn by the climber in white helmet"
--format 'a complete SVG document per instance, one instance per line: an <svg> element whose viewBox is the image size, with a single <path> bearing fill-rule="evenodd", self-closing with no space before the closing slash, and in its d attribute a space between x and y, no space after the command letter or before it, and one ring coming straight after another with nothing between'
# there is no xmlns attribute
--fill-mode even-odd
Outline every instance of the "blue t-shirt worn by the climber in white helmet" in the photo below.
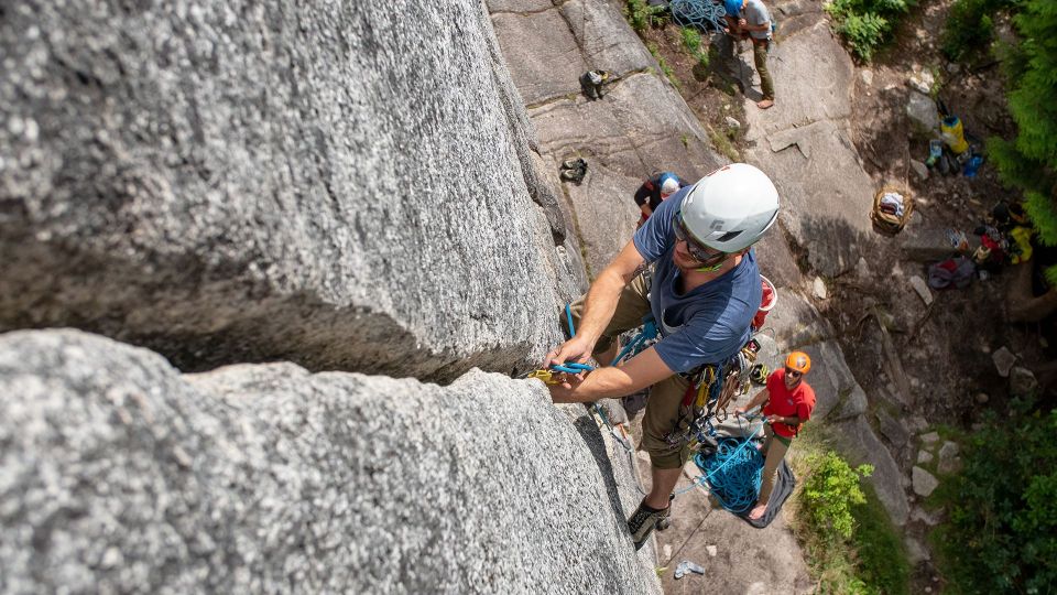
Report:
<svg viewBox="0 0 1057 595"><path fill-rule="evenodd" d="M749 340L749 324L760 310L763 290L756 256L749 250L733 269L689 293L677 291L682 273L672 260L673 217L693 186L668 197L635 231L634 242L646 262L655 262L650 307L661 340L657 355L673 371L720 364Z"/></svg>

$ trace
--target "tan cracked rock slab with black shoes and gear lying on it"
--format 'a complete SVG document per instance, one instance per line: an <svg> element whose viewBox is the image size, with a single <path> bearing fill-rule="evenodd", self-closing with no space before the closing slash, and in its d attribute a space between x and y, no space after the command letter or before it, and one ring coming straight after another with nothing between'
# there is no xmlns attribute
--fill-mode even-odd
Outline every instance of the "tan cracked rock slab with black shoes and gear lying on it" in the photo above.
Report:
<svg viewBox="0 0 1057 595"><path fill-rule="evenodd" d="M632 195L644 178L671 170L693 182L726 161L611 3L488 6L541 152L555 172L566 159L588 162L582 183L567 182L563 191L588 274L598 274L631 239L639 220ZM580 93L579 76L590 68L614 77L603 99Z"/></svg>

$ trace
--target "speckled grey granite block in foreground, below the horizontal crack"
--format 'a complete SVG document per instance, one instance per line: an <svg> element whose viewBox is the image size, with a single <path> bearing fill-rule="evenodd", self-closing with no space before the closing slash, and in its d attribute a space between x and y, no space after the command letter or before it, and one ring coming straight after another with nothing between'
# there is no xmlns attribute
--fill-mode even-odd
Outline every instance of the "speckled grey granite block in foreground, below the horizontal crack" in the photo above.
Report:
<svg viewBox="0 0 1057 595"><path fill-rule="evenodd" d="M631 470L584 447L582 411L479 371L181 377L101 337L8 334L0 591L660 593L611 479Z"/></svg>

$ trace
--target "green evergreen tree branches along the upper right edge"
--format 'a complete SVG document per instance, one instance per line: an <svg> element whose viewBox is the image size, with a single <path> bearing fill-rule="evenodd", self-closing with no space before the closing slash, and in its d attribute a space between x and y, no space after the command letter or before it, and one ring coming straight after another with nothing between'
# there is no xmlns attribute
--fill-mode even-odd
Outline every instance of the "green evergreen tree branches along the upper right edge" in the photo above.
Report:
<svg viewBox="0 0 1057 595"><path fill-rule="evenodd" d="M1057 246L1057 3L1024 0L1013 19L1021 41L1004 50L1012 141L989 139L1002 181L1024 192L1024 209L1039 241Z"/></svg>

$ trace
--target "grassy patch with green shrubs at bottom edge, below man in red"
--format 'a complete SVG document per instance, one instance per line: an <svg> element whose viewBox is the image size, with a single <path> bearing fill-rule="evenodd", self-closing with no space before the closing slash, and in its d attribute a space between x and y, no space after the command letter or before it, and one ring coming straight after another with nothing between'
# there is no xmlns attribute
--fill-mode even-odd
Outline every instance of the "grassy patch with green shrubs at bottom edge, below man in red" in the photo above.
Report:
<svg viewBox="0 0 1057 595"><path fill-rule="evenodd" d="M819 593L902 595L911 565L872 486L810 426L791 451L799 484L786 504Z"/></svg>

